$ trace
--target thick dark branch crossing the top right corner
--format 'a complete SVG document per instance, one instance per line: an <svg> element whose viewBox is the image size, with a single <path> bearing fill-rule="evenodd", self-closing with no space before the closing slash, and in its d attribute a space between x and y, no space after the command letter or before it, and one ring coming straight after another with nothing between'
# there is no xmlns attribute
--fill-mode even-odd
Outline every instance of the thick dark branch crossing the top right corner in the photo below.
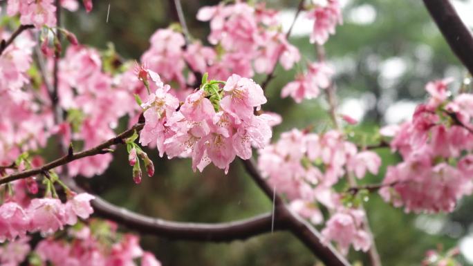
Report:
<svg viewBox="0 0 473 266"><path fill-rule="evenodd" d="M456 57L473 74L473 37L449 0L423 0Z"/></svg>

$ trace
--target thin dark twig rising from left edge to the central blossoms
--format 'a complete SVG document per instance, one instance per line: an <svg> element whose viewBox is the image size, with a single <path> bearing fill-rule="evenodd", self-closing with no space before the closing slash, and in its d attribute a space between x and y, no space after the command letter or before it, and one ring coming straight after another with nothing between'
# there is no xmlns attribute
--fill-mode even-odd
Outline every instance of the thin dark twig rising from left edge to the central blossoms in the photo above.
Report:
<svg viewBox="0 0 473 266"><path fill-rule="evenodd" d="M0 179L0 184L6 184L8 182L12 182L12 181L19 180L22 178L28 178L33 175L37 175L39 173L44 173L44 171L54 169L55 167L59 167L61 165L67 164L68 162L72 162L72 161L89 157L89 156L93 156L93 155L102 154L104 153L104 151L109 152L108 149L110 146L114 144L122 144L125 138L133 135L133 132L135 131L140 131L143 128L143 126L145 126L145 124L136 124L131 129L128 129L127 131L124 131L123 133L120 133L120 135L113 137L110 140L107 140L106 142L103 142L102 144L98 146L95 146L86 151L73 153L73 155L64 155L61 158L54 160L53 162L48 162L47 164L44 164L42 167L29 169L26 171L21 171L18 173L12 173L11 175L7 175L5 178Z"/></svg>

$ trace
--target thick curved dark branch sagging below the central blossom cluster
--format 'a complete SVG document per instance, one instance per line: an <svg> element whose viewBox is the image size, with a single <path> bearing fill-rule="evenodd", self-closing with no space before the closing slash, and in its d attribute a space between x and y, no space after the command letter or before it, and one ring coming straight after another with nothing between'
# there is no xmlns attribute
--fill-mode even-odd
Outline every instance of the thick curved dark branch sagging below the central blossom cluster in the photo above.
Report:
<svg viewBox="0 0 473 266"><path fill-rule="evenodd" d="M68 187L77 192L84 192L84 189L73 183L73 180L69 182ZM101 218L113 220L142 234L153 234L171 240L229 242L232 240L245 240L271 231L271 213L264 213L245 220L212 224L172 222L151 218L112 205L99 196L95 196L95 200L92 200L92 207L94 215ZM284 223L276 220L275 229L286 229L286 226Z"/></svg>

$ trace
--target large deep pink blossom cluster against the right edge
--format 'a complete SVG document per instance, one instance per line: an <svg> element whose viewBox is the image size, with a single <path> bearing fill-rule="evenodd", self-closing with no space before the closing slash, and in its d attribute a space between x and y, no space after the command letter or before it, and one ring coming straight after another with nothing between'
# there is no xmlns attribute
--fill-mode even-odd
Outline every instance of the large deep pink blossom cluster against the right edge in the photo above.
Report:
<svg viewBox="0 0 473 266"><path fill-rule="evenodd" d="M395 131L391 149L403 162L389 167L380 193L405 211L453 211L456 202L472 193L473 97L449 99L450 79L430 82L427 104L420 104L411 122Z"/></svg>

